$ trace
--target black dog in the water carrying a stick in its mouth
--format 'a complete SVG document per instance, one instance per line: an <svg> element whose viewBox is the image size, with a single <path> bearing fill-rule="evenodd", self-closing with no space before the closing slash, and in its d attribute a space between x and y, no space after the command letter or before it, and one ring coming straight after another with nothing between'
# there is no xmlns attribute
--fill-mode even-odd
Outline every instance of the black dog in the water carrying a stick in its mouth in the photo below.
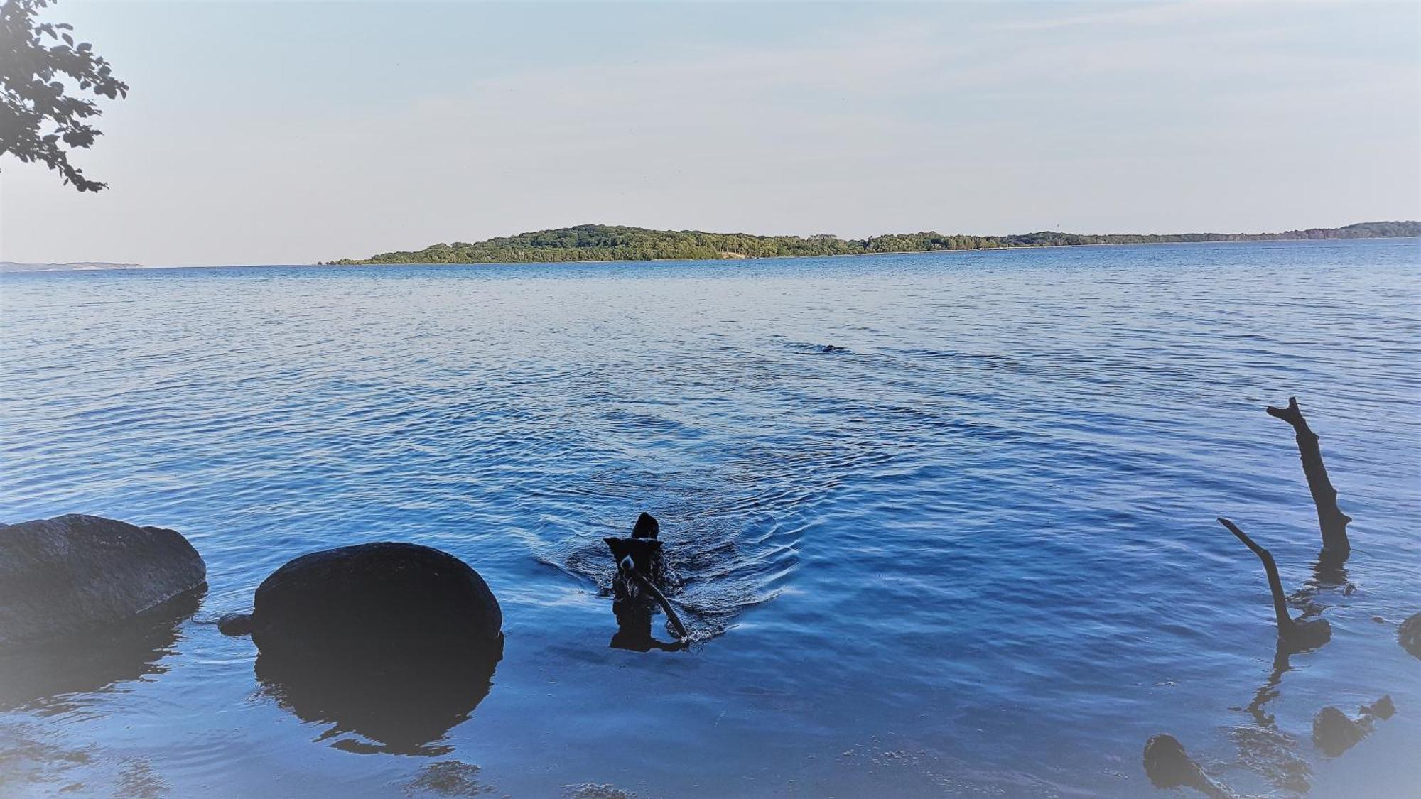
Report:
<svg viewBox="0 0 1421 799"><path fill-rule="evenodd" d="M679 650L685 645L685 641L666 644L652 638L651 616L657 604L666 611L666 618L681 638L689 636L662 593L668 587L671 569L662 553L662 542L657 539L659 533L657 519L651 513L642 513L630 537L603 539L617 560L617 576L612 577L612 613L617 616L612 645L617 648L648 651Z"/></svg>

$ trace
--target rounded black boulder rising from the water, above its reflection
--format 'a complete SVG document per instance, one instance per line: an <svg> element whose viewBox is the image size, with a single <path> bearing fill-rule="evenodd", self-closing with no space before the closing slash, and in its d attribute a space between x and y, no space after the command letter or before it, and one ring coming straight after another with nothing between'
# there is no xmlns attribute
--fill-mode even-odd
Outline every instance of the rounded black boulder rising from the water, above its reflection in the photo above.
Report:
<svg viewBox="0 0 1421 799"><path fill-rule="evenodd" d="M261 658L342 668L459 660L496 663L503 613L477 572L411 543L303 554L257 587L250 620Z"/></svg>

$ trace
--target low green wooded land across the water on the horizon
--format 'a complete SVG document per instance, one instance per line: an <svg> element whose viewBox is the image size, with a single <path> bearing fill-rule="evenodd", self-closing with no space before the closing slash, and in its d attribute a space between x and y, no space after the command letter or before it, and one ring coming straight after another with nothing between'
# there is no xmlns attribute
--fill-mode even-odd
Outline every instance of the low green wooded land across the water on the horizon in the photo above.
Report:
<svg viewBox="0 0 1421 799"><path fill-rule="evenodd" d="M578 225L500 236L483 242L432 245L415 252L379 253L367 259L323 262L333 266L369 263L560 263L585 260L715 260L784 256L847 256L993 250L1002 247L1069 247L1084 245L1165 245L1189 242L1276 242L1296 239L1384 239L1421 236L1421 222L1360 222L1346 227L1309 227L1283 233L1019 233L965 236L888 233L867 239L817 236L755 236L702 230L649 230L620 225Z"/></svg>

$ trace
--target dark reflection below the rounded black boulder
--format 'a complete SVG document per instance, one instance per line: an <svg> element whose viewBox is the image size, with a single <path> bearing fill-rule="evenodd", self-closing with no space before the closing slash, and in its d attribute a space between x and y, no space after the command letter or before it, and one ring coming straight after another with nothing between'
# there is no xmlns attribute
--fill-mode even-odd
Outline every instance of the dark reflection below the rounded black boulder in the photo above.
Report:
<svg viewBox="0 0 1421 799"><path fill-rule="evenodd" d="M439 742L489 694L496 664L388 658L351 667L259 655L256 674L280 707L330 725L317 741L351 752L443 755L450 748Z"/></svg>

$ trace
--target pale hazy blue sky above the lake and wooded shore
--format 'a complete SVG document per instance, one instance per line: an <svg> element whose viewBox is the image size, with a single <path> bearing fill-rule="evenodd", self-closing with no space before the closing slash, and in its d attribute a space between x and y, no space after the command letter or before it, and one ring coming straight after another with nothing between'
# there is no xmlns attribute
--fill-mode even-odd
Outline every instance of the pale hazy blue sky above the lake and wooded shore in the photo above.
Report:
<svg viewBox="0 0 1421 799"><path fill-rule="evenodd" d="M0 259L306 263L583 222L753 233L1421 218L1395 4L63 0L132 85Z"/></svg>

